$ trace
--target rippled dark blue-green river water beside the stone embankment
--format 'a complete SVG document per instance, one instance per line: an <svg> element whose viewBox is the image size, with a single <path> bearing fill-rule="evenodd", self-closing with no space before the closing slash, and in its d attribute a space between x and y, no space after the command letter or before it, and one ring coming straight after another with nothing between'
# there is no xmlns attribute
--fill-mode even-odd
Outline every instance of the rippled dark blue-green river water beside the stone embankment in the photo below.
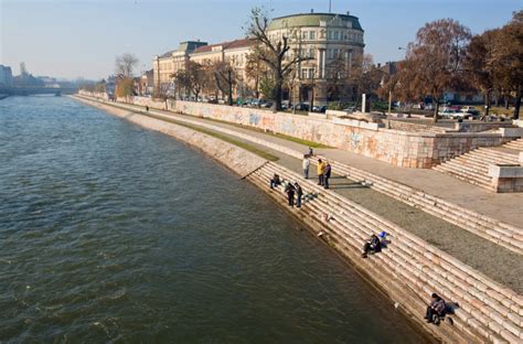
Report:
<svg viewBox="0 0 523 344"><path fill-rule="evenodd" d="M198 151L64 97L0 100L1 343L420 343Z"/></svg>

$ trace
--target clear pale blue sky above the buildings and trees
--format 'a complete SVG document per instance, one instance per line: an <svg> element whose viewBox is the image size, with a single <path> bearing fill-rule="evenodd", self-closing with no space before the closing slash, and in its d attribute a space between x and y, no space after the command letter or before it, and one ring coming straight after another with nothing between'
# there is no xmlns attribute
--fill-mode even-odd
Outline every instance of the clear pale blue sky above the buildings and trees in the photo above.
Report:
<svg viewBox="0 0 523 344"><path fill-rule="evenodd" d="M331 0L332 12L360 19L374 62L404 57L426 22L452 18L481 33L506 23L523 0ZM241 39L253 7L275 17L328 12L329 0L0 0L0 64L19 74L99 79L115 56L134 53L138 71L182 41Z"/></svg>

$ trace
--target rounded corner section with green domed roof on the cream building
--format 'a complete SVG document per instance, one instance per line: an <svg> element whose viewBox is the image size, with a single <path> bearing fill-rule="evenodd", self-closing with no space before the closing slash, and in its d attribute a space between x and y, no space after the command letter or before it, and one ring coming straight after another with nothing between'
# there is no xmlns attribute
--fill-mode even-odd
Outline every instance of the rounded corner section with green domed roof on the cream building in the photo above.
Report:
<svg viewBox="0 0 523 344"><path fill-rule="evenodd" d="M360 63L365 46L364 31L356 17L334 13L293 14L274 19L267 30L269 39L285 35L290 44L290 57L300 55L302 62L292 77L284 98L292 103L344 100L348 89L341 83Z"/></svg>

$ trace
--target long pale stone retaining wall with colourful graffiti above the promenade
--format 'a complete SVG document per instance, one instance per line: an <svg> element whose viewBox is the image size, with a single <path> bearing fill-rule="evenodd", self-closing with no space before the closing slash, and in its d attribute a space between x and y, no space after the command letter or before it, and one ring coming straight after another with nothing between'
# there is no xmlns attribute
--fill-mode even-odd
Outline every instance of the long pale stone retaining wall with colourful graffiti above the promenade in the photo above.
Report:
<svg viewBox="0 0 523 344"><path fill-rule="evenodd" d="M342 125L331 119L287 112L275 114L255 108L181 100L157 101L143 97L135 97L135 100L129 103L270 130L406 168L429 169L478 147L499 146L504 142L498 133L408 132L386 128L366 128L366 126L350 122Z"/></svg>

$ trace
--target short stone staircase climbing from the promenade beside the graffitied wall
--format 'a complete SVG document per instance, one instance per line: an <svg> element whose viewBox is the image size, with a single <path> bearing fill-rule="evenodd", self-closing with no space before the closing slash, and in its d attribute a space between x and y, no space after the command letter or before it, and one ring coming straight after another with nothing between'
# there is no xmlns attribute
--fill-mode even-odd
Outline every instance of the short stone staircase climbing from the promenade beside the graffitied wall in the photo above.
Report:
<svg viewBox="0 0 523 344"><path fill-rule="evenodd" d="M478 148L468 153L450 159L433 169L470 184L495 191L492 178L489 176L490 164L519 164L517 151L501 146L495 148ZM510 152L510 151L513 151Z"/></svg>

